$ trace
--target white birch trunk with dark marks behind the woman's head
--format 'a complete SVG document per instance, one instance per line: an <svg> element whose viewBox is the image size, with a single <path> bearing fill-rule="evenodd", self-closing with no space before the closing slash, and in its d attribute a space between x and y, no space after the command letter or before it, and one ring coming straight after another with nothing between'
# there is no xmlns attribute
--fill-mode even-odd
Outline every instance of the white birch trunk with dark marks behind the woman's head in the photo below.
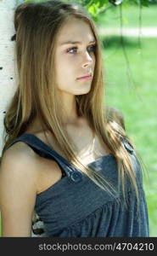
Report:
<svg viewBox="0 0 157 256"><path fill-rule="evenodd" d="M3 118L14 96L17 76L14 65L14 9L24 1L0 0L0 155L3 149ZM15 81L16 79L16 81Z"/></svg>

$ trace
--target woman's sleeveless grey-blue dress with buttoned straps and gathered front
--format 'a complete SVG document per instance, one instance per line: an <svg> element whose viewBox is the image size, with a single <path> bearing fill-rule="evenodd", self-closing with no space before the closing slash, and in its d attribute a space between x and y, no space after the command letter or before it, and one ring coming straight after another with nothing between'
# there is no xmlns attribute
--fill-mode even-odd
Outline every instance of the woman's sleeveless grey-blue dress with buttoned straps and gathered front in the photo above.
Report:
<svg viewBox="0 0 157 256"><path fill-rule="evenodd" d="M117 190L116 196L107 191L72 166L58 152L33 134L23 134L9 145L17 142L28 144L36 154L55 160L63 172L62 178L48 189L36 195L35 212L44 224L47 237L137 237L149 236L149 216L143 191L143 174L137 156L129 143L124 147L132 158L139 193L137 198L126 177L127 207L121 187L118 188L118 171L115 157L107 154L88 164L100 173ZM53 170L52 170L53 172Z"/></svg>

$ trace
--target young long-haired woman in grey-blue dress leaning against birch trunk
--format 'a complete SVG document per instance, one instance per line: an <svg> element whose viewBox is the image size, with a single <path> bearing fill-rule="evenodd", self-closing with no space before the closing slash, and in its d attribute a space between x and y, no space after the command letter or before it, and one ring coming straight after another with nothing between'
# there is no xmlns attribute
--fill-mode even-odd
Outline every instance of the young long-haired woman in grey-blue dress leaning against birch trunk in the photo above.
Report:
<svg viewBox="0 0 157 256"><path fill-rule="evenodd" d="M142 168L122 114L104 104L96 26L75 3L20 4L19 84L4 119L3 236L149 236ZM41 232L42 233L42 232Z"/></svg>

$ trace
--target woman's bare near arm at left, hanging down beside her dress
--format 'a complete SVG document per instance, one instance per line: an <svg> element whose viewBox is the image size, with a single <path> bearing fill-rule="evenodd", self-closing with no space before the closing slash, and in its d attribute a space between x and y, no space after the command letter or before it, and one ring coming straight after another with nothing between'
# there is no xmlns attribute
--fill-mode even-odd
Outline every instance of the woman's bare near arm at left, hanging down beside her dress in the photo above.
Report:
<svg viewBox="0 0 157 256"><path fill-rule="evenodd" d="M3 155L0 168L2 236L31 236L36 202L36 160L13 147Z"/></svg>

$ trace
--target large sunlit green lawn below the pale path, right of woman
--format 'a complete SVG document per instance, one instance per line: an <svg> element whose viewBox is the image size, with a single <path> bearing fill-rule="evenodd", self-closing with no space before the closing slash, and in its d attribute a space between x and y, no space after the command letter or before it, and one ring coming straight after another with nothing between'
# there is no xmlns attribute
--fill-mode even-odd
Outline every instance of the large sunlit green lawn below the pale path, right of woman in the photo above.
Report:
<svg viewBox="0 0 157 256"><path fill-rule="evenodd" d="M126 54L135 81L127 76L128 67L120 38L103 38L107 104L121 110L126 131L146 166L143 185L149 208L150 236L157 236L157 38L125 39Z"/></svg>

